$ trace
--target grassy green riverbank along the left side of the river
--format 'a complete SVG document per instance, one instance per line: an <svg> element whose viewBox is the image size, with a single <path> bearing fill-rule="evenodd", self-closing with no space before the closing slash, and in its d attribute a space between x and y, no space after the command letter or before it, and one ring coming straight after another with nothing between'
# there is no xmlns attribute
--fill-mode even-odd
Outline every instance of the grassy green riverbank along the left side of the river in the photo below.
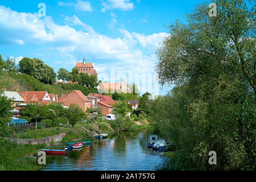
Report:
<svg viewBox="0 0 256 182"><path fill-rule="evenodd" d="M131 120L127 123L129 127L125 126L125 131L142 131L150 126L149 123L142 123L137 125ZM101 133L108 133L109 136L116 133L116 128L113 123L77 123L74 127L50 127L46 129L29 130L20 138L26 139L40 139L58 135L67 132L67 135L57 143L50 142L47 144L15 144L6 140L5 144L0 147L0 171L38 171L41 166L37 163L38 151L41 148L54 148L56 150L63 150L66 145L65 142L79 142L94 140L95 138L89 137L89 130L92 129L94 133L99 133L101 126Z"/></svg>

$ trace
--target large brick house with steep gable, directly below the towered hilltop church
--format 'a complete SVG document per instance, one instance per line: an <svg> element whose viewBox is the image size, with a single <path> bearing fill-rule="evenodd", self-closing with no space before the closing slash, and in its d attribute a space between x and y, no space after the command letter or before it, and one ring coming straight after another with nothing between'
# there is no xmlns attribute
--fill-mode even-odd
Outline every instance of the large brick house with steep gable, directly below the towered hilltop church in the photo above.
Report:
<svg viewBox="0 0 256 182"><path fill-rule="evenodd" d="M63 101L64 106L70 106L71 104L77 104L85 112L87 108L90 108L90 100L80 91L73 90Z"/></svg>

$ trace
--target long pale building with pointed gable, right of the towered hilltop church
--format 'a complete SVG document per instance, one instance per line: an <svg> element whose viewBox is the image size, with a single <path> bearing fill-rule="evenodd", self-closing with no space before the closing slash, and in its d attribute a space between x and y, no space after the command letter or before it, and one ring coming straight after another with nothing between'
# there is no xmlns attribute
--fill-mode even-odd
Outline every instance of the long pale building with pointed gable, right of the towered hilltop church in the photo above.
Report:
<svg viewBox="0 0 256 182"><path fill-rule="evenodd" d="M101 83L97 86L98 89L104 90L105 93L129 93L129 85L125 80L121 80L119 83Z"/></svg>

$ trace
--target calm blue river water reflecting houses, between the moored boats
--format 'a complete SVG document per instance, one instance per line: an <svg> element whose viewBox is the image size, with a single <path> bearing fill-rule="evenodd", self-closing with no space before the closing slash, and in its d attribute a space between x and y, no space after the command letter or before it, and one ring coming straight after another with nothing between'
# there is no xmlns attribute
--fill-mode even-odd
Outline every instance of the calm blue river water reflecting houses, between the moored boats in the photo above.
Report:
<svg viewBox="0 0 256 182"><path fill-rule="evenodd" d="M151 131L123 132L104 140L94 140L91 146L68 151L67 156L46 156L42 170L152 171L167 160L159 152L147 148Z"/></svg>

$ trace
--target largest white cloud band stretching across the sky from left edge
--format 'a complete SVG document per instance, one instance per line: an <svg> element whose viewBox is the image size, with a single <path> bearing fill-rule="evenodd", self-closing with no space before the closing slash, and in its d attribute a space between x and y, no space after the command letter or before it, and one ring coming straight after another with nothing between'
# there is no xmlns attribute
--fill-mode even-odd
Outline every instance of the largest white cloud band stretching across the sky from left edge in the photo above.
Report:
<svg viewBox="0 0 256 182"><path fill-rule="evenodd" d="M18 44L13 42L15 39L23 40L24 44L42 44L47 53L52 52L55 57L59 57L55 64L60 64L61 60L61 65L67 67L73 67L81 57L94 57L102 63L95 63L98 73L107 72L110 68L126 74L154 72L155 52L145 55L140 47L150 49L158 46L167 35L159 33L146 36L119 29L123 38L110 38L95 32L75 15L66 16L67 24L61 26L54 23L50 16L40 19L37 14L17 13L3 6L0 6L0 17L0 30L6 32L5 35L0 34L1 43ZM71 25L84 29L77 31Z"/></svg>

